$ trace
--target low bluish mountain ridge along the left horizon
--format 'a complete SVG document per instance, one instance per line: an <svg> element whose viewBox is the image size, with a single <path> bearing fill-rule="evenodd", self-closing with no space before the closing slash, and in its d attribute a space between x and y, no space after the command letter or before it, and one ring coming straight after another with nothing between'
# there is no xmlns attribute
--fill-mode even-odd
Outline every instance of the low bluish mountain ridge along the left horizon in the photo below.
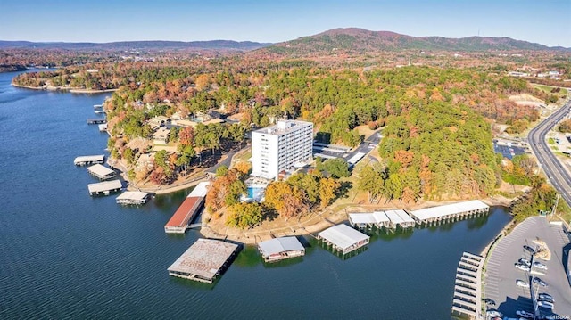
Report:
<svg viewBox="0 0 571 320"><path fill-rule="evenodd" d="M64 50L166 50L166 49L194 49L194 50L225 50L250 51L268 46L252 41L122 41L108 43L90 42L29 42L29 41L3 41L0 40L0 49L7 48L41 48Z"/></svg>

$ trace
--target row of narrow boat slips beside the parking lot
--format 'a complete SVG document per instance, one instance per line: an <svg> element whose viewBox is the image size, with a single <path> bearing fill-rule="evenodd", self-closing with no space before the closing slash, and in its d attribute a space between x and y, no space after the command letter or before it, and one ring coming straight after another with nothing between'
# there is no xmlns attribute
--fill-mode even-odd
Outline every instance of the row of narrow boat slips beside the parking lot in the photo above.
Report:
<svg viewBox="0 0 571 320"><path fill-rule="evenodd" d="M482 315L482 267L484 258L464 252L456 268L452 314L473 319Z"/></svg>

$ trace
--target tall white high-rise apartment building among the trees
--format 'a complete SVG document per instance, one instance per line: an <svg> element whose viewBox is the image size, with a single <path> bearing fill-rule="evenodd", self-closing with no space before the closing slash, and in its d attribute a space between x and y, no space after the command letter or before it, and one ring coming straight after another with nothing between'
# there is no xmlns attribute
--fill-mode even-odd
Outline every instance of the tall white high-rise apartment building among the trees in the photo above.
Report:
<svg viewBox="0 0 571 320"><path fill-rule="evenodd" d="M309 162L312 148L311 122L279 120L252 131L252 176L275 179L280 172Z"/></svg>

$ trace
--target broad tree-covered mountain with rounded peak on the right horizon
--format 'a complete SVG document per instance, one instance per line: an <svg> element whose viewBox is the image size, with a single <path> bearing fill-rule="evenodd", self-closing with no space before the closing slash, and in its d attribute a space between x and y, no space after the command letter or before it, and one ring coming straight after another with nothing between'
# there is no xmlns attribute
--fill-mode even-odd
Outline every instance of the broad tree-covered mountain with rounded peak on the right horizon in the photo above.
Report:
<svg viewBox="0 0 571 320"><path fill-rule="evenodd" d="M488 50L568 50L509 37L411 37L390 31L347 28L331 29L315 36L269 45L261 52L290 53L371 53L398 50L488 51Z"/></svg>

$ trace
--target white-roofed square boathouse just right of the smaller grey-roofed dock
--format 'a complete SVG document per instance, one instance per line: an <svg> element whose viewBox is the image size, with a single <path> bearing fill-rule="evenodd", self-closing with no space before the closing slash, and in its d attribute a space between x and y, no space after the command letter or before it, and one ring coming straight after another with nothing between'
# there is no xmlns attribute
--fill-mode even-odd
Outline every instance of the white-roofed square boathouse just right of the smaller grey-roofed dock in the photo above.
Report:
<svg viewBox="0 0 571 320"><path fill-rule="evenodd" d="M341 224L323 230L317 238L331 244L335 251L346 254L367 245L370 237L351 226Z"/></svg>

